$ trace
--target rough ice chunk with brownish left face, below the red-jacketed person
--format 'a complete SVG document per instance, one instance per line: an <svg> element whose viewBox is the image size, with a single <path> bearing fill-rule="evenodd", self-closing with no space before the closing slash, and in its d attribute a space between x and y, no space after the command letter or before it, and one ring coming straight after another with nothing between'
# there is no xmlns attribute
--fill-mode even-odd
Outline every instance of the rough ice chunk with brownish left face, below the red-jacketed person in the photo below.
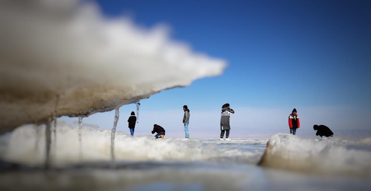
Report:
<svg viewBox="0 0 371 191"><path fill-rule="evenodd" d="M302 139L278 133L270 137L260 165L319 174L371 177L371 150L344 137Z"/></svg>

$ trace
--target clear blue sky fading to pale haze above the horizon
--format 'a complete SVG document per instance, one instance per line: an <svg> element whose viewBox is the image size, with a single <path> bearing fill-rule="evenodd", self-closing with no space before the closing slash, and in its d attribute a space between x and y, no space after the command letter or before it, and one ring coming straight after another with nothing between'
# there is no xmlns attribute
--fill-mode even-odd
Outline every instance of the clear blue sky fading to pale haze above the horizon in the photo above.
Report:
<svg viewBox="0 0 371 191"><path fill-rule="evenodd" d="M143 117L139 134L158 123L181 136L182 124L176 122L183 117L182 106L188 105L191 122L194 115L205 113L215 116L206 119L216 120L201 117L190 123L190 131L197 128L203 132L193 130L197 136L214 136L219 133L224 103L239 108L236 113L245 112L231 117L232 124L240 122L236 126L240 135L262 127L288 131L287 117L293 108L307 119L302 122L306 129L320 122L332 129L371 129L366 121L371 111L370 1L95 2L106 17L131 17L145 28L166 24L172 39L228 62L221 76L142 100L140 114L158 115L158 121ZM124 122L131 110L134 105L120 109ZM247 119L253 113L261 118ZM86 120L111 128L113 116L113 112L99 113ZM118 129L128 131L124 122Z"/></svg>

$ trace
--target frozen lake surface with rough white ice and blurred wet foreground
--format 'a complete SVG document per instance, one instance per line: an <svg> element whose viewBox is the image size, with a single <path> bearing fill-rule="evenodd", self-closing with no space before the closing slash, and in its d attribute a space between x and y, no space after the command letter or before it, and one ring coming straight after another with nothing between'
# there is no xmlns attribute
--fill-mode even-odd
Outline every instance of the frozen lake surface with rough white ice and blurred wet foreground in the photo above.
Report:
<svg viewBox="0 0 371 191"><path fill-rule="evenodd" d="M45 170L44 139L37 141L31 136L35 132L22 127L3 137L1 148L6 149L2 151L1 190L371 190L369 177L258 166L268 138L154 140L152 136L130 138L116 132L117 160L111 162L109 130L84 128L83 157L79 158L78 132L65 126L59 128L56 146L52 144L58 151L52 150L53 165ZM272 137L329 144L285 136ZM370 152L367 145L335 142L351 151L366 152L365 157Z"/></svg>

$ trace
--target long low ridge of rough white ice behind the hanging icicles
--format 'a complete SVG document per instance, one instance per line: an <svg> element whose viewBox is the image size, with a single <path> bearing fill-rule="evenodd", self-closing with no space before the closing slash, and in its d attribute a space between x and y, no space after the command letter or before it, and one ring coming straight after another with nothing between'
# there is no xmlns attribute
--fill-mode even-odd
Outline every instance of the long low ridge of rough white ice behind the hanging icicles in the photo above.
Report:
<svg viewBox="0 0 371 191"><path fill-rule="evenodd" d="M53 132L53 130L52 130ZM256 163L262 153L238 150L218 150L215 143L192 139L154 139L151 129L147 136L134 136L124 132L115 135L115 159L118 161L205 161L221 160ZM81 162L111 161L111 130L83 124L80 143L77 126L63 121L57 123L56 139L52 135L51 164L66 166ZM0 136L0 159L29 166L45 162L45 126L23 125L7 136Z"/></svg>

